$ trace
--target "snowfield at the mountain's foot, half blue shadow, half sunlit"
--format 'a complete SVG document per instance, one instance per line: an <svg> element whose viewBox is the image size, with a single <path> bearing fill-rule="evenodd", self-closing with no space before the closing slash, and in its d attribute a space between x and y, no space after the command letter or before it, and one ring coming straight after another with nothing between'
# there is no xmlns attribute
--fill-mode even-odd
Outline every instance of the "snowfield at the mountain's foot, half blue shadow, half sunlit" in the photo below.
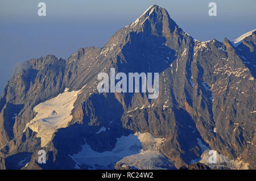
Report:
<svg viewBox="0 0 256 181"><path fill-rule="evenodd" d="M165 138L155 138L151 133L137 132L117 138L112 151L100 153L85 144L79 153L69 156L76 162L76 169L83 164L90 169L114 169L117 162L138 169L170 169L170 159L159 150L164 141Z"/></svg>

